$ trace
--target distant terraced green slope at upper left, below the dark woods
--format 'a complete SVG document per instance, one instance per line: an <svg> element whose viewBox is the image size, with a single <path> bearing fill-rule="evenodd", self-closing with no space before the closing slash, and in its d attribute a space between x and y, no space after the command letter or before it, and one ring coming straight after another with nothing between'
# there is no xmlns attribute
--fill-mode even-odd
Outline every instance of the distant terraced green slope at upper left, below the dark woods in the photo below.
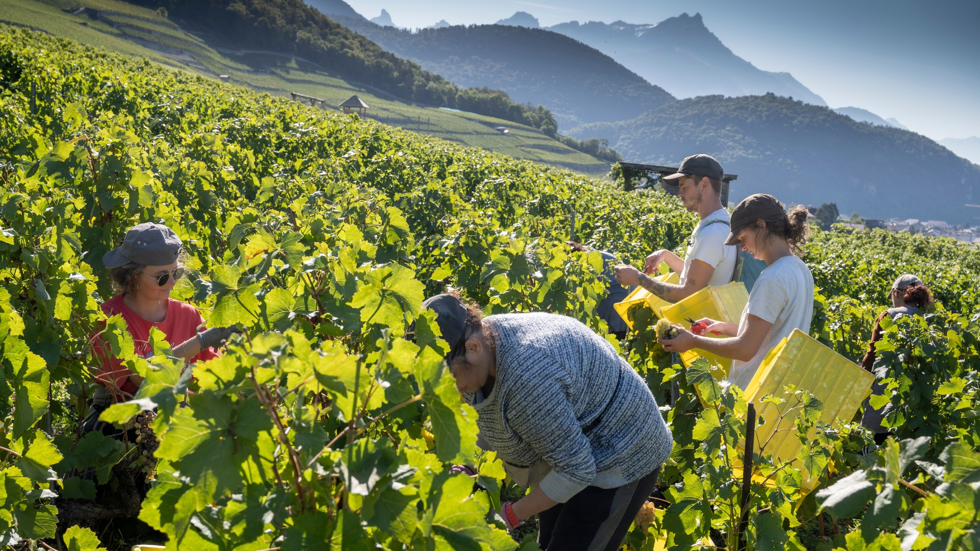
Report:
<svg viewBox="0 0 980 551"><path fill-rule="evenodd" d="M43 30L109 51L144 56L157 63L216 77L272 95L298 92L336 106L353 94L370 106L368 116L396 125L510 155L584 173L605 173L609 164L575 151L531 126L492 117L419 105L365 84L341 78L300 58L216 48L208 36L195 35L155 11L118 0L86 0L98 14L72 15L72 1L0 0L0 23ZM509 135L494 130L505 126Z"/></svg>

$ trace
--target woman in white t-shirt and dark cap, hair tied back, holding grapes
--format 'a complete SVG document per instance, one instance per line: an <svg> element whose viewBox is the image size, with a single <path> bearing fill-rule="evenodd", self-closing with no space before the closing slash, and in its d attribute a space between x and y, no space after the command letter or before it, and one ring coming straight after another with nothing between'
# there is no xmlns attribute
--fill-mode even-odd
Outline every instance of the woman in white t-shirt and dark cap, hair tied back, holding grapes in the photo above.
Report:
<svg viewBox="0 0 980 551"><path fill-rule="evenodd" d="M772 195L750 195L735 207L731 233L726 245L739 245L753 257L762 260L762 270L742 310L738 326L705 318L708 326L701 334L684 327L677 336L660 339L669 352L686 352L700 348L722 358L733 360L728 380L743 390L756 375L762 359L793 329L809 333L813 316L813 277L796 255L809 236L807 209L797 207L787 214L785 207ZM728 338L703 336L716 331Z"/></svg>

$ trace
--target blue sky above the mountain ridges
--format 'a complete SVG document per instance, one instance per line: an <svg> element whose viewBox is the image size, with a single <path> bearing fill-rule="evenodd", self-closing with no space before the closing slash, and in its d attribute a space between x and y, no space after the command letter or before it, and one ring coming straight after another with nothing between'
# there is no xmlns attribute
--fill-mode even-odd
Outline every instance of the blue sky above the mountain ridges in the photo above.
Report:
<svg viewBox="0 0 980 551"><path fill-rule="evenodd" d="M348 0L395 25L491 24L516 11L541 25L658 23L700 12L736 55L792 73L831 107L855 106L940 140L980 135L980 1ZM657 82L654 82L655 84Z"/></svg>

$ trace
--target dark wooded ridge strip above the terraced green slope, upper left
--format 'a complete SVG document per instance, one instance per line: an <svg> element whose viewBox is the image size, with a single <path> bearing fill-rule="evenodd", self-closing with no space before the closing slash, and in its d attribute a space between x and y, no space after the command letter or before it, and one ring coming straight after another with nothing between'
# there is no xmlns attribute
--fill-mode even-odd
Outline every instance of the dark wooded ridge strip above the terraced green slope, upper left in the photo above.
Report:
<svg viewBox="0 0 980 551"><path fill-rule="evenodd" d="M368 38L330 21L301 0L134 0L164 8L207 32L218 45L295 54L392 93L535 128L557 126L547 109L511 101L495 90L461 88L416 63L386 52Z"/></svg>

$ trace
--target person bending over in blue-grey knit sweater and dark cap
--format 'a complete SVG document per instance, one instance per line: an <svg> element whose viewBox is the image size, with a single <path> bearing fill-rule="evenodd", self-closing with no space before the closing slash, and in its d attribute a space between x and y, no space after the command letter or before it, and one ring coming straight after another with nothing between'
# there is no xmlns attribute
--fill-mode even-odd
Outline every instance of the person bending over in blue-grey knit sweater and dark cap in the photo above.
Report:
<svg viewBox="0 0 980 551"><path fill-rule="evenodd" d="M479 414L477 444L534 487L502 504L504 523L537 515L547 551L618 549L673 445L646 382L577 320L484 319L450 294L422 307L436 313L456 386Z"/></svg>

